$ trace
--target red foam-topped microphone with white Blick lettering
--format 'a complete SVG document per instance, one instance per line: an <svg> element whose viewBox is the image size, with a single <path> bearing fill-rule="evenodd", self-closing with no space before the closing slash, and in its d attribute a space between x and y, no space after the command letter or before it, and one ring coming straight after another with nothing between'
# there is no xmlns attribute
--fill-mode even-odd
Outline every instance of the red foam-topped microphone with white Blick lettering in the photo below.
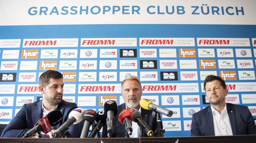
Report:
<svg viewBox="0 0 256 143"><path fill-rule="evenodd" d="M131 135L133 132L133 128L132 128L133 116L128 108L120 112L120 114L118 115L118 120L124 125L127 133Z"/></svg>

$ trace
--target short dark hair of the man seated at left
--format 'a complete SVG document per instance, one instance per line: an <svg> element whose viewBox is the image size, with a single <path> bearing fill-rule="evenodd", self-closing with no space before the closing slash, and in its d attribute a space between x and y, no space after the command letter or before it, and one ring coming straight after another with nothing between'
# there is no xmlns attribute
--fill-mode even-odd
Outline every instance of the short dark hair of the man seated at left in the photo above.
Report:
<svg viewBox="0 0 256 143"><path fill-rule="evenodd" d="M49 84L50 79L63 79L63 75L56 70L47 70L40 75L38 83L44 88Z"/></svg>

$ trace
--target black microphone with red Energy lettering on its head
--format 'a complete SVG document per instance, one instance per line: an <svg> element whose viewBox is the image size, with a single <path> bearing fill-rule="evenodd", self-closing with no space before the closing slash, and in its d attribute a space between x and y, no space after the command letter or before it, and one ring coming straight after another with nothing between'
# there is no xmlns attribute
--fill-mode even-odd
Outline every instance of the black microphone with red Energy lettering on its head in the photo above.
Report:
<svg viewBox="0 0 256 143"><path fill-rule="evenodd" d="M91 110L91 109L84 110L84 112L82 113L82 121L84 123L84 127L82 129L80 138L88 137L90 126L95 121L96 115L97 115L96 111L94 110Z"/></svg>

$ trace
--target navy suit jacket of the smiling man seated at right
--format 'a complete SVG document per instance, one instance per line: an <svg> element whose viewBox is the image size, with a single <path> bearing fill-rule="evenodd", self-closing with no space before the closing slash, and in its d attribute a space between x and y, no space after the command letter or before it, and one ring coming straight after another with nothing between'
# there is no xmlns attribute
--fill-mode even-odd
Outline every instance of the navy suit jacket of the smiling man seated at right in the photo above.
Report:
<svg viewBox="0 0 256 143"><path fill-rule="evenodd" d="M254 135L256 125L247 106L226 103L233 135ZM214 136L210 106L192 115L191 136Z"/></svg>

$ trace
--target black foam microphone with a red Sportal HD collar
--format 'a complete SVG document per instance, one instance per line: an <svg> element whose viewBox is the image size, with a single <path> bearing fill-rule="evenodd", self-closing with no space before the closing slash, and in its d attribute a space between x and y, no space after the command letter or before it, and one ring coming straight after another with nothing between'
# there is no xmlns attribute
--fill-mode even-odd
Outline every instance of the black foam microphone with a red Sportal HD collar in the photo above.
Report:
<svg viewBox="0 0 256 143"><path fill-rule="evenodd" d="M56 126L60 123L61 119L62 113L60 110L51 111L46 116L38 120L34 128L25 133L22 138L30 138L41 131L47 134L52 130L52 126Z"/></svg>

